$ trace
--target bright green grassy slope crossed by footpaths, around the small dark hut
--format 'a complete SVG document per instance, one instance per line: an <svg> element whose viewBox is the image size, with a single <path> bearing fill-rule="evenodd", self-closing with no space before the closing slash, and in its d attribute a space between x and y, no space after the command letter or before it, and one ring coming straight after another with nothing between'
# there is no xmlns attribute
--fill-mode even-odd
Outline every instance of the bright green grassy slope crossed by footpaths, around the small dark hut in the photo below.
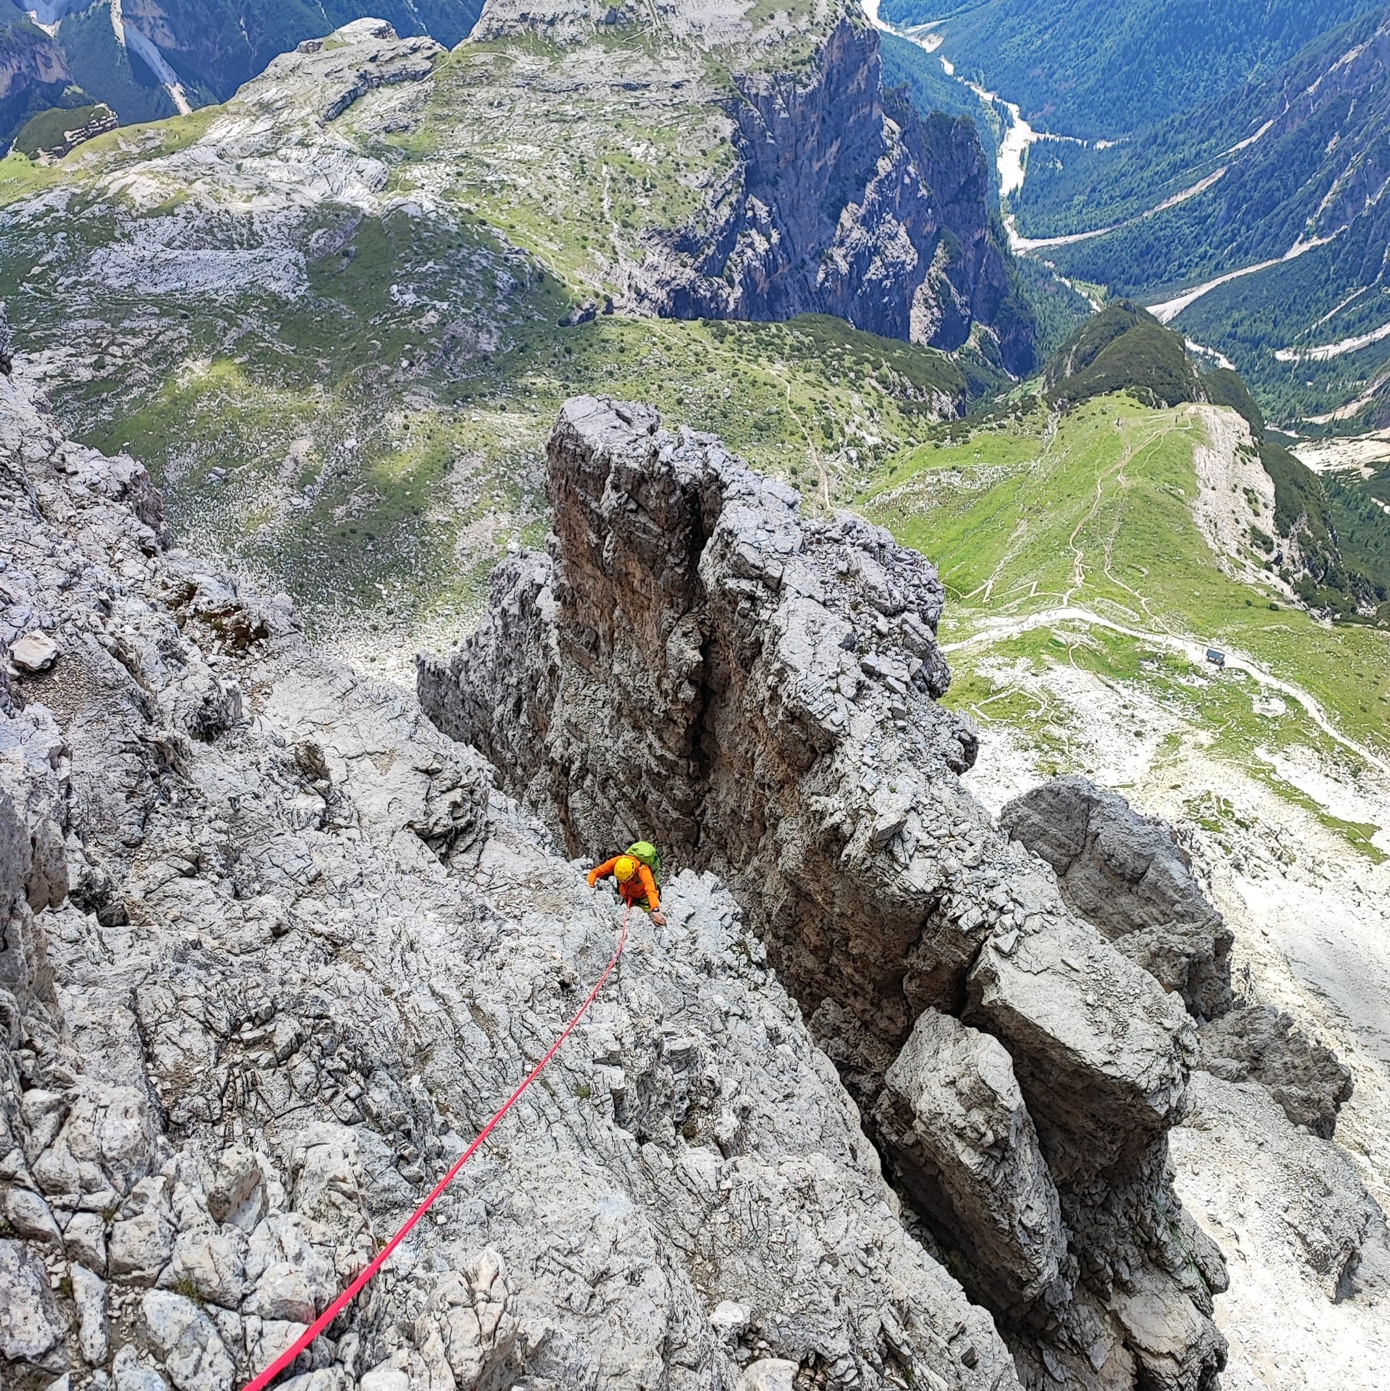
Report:
<svg viewBox="0 0 1390 1391"><path fill-rule="evenodd" d="M1190 510L1201 428L1185 408L1102 398L1064 416L1052 435L1032 417L910 451L863 508L941 566L952 598L948 643L989 619L1080 605L1131 629L1240 651L1315 696L1345 734L1390 751L1390 634L1319 625L1222 574ZM1279 783L1258 748L1302 744L1348 757L1293 701L1281 715L1258 714L1251 679L1209 679L1152 644L1101 629L1042 626L954 654L949 700L1027 730L1045 766L1067 766L1064 729L1034 697L1010 689L1000 658L1035 669L1071 662L1113 683L1141 683L1211 740L1215 755L1263 769L1291 800L1307 798ZM1339 829L1369 849L1364 828Z"/></svg>

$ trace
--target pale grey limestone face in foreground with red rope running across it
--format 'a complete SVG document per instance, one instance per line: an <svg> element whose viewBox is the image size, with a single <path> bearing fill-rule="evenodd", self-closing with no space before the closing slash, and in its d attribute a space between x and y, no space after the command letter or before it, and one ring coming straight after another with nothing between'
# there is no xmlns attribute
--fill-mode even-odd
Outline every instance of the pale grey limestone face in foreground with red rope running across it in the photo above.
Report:
<svg viewBox="0 0 1390 1391"><path fill-rule="evenodd" d="M0 716L0 1210L25 1228L0 1381L234 1391L559 1035L621 919L405 693L166 549L127 463L0 383L0 641L63 647ZM742 910L686 869L296 1373L1017 1387L899 1212Z"/></svg>

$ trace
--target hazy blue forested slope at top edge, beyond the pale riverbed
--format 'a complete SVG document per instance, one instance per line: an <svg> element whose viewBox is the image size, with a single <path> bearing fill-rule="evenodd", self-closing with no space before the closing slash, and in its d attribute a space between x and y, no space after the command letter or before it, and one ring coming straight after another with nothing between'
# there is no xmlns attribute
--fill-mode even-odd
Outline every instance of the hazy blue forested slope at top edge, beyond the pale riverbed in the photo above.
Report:
<svg viewBox="0 0 1390 1391"><path fill-rule="evenodd" d="M1273 72L1366 0L884 0L1038 129L1117 138ZM949 18L948 18L949 17Z"/></svg>

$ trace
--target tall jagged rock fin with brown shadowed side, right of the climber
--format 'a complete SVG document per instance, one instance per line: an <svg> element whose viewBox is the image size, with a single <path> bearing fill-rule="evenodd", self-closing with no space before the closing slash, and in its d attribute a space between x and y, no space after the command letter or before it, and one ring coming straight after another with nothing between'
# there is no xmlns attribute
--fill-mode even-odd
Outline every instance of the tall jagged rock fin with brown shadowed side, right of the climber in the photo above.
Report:
<svg viewBox="0 0 1390 1391"><path fill-rule="evenodd" d="M572 854L728 881L1025 1380L1209 1385L1224 1273L1166 1174L1191 1021L961 786L934 568L643 406L569 402L548 465L548 554L420 659L426 711Z"/></svg>

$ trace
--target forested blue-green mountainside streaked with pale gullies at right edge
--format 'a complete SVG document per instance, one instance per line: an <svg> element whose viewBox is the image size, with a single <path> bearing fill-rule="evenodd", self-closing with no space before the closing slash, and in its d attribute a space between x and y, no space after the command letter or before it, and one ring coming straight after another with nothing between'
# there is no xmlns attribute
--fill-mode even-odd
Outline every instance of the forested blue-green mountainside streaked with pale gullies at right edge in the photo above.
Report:
<svg viewBox="0 0 1390 1391"><path fill-rule="evenodd" d="M1120 145L1034 146L1013 199L1020 231L1096 232L1038 255L1149 305L1238 271L1173 327L1229 357L1270 419L1387 423L1387 11L1368 14L1265 81Z"/></svg>

